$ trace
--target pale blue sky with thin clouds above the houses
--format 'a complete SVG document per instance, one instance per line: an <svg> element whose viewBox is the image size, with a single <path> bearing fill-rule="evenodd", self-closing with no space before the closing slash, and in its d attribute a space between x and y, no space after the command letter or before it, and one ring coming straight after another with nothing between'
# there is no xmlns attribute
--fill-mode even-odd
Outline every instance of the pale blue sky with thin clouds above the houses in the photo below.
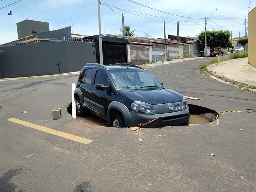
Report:
<svg viewBox="0 0 256 192"><path fill-rule="evenodd" d="M2 0L0 2L0 8L16 1L18 0ZM122 26L121 13L124 13L125 25L131 25L132 29L136 29L137 36L145 36L144 32L147 32L152 37L163 38L164 18L166 20L166 35L176 35L176 22L179 20L180 36L195 36L204 30L204 19L200 18L209 17L218 8L212 14L210 20L207 21L207 24L209 24L207 25L207 30L227 28L232 30L233 36L239 36L239 31L240 35L244 36L244 19L247 19L249 4L251 2L250 10L256 6L256 0L133 1L154 9L185 17L158 12L128 0L101 0L102 34L120 33L119 28ZM125 10L114 7L110 8L111 6ZM12 10L13 15L8 15L7 12L10 10ZM18 39L16 23L19 21L30 19L49 22L50 30L54 30L67 26L72 27L71 17L73 19L75 33L86 35L98 34L97 0L22 0L0 9L0 44Z"/></svg>

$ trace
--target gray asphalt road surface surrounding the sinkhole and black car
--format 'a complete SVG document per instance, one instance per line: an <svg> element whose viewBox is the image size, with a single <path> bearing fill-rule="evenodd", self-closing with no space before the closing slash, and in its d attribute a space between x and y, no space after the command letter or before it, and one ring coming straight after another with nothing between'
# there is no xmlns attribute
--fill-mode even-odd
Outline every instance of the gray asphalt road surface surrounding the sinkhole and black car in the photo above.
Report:
<svg viewBox="0 0 256 192"><path fill-rule="evenodd" d="M145 68L166 87L200 98L190 104L255 109L255 94L199 74L198 65L210 59ZM70 102L76 80L68 75L0 82L1 192L256 191L256 114L223 113L219 126L215 121L139 132L92 126L67 112L52 120L51 111ZM9 118L93 141L82 144Z"/></svg>

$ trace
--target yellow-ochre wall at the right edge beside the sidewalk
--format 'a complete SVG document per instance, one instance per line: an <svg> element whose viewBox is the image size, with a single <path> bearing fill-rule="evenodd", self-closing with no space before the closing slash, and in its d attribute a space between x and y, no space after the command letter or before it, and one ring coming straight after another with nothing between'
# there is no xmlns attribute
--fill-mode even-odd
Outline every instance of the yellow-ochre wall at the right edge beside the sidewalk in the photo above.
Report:
<svg viewBox="0 0 256 192"><path fill-rule="evenodd" d="M248 14L248 62L256 68L256 7Z"/></svg>

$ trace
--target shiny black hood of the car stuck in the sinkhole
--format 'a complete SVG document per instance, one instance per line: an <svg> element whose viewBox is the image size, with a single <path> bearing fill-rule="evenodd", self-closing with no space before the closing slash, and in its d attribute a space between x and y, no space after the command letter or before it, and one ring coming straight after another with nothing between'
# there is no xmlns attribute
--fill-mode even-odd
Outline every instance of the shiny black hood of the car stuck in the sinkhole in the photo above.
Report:
<svg viewBox="0 0 256 192"><path fill-rule="evenodd" d="M171 89L157 90L118 90L118 95L132 101L142 101L154 104L174 103L182 101L183 96Z"/></svg>

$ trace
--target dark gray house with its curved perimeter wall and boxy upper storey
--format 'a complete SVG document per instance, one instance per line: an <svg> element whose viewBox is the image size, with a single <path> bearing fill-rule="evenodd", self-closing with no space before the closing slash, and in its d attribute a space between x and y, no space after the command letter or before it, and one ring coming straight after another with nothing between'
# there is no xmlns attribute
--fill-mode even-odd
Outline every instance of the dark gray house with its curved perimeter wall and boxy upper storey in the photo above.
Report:
<svg viewBox="0 0 256 192"><path fill-rule="evenodd" d="M17 33L19 39L0 45L0 78L68 73L96 62L95 41L73 37L70 26L51 31L49 23L24 20Z"/></svg>

